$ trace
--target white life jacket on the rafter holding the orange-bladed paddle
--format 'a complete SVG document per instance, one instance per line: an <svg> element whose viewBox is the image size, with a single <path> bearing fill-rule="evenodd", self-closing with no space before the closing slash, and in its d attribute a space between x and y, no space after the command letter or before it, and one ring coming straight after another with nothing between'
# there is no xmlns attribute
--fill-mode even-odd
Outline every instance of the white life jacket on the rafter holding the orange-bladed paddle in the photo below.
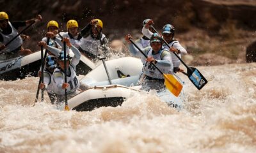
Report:
<svg viewBox="0 0 256 153"><path fill-rule="evenodd" d="M156 60L163 60L162 54L163 52L168 52L166 49L162 49L158 54L152 54L152 48L147 52L148 57L154 57ZM150 62L146 61L146 58L144 57L144 64L143 64L143 73L147 75L148 77L157 78L157 79L163 79L163 75L156 69L156 67L151 64ZM172 63L171 63L172 64ZM172 67L171 66L157 66L163 73L172 73Z"/></svg>

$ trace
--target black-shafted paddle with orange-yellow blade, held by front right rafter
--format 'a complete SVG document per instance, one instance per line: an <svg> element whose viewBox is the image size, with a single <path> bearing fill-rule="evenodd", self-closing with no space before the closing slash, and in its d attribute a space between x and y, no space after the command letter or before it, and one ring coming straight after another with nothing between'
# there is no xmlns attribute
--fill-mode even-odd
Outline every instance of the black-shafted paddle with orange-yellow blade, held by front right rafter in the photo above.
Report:
<svg viewBox="0 0 256 153"><path fill-rule="evenodd" d="M131 38L129 38L129 41L131 41L131 43L138 48L138 50L140 50L141 54L143 54L146 58L148 58L148 56L143 53L140 49L140 47L138 47L134 41L131 40ZM179 96L181 90L182 90L182 85L180 84L180 82L173 77L173 75L171 74L164 74L159 68L157 68L156 64L154 64L154 62L151 62L156 69L164 76L164 84L166 85L166 88L172 92L173 95L175 95L176 97Z"/></svg>

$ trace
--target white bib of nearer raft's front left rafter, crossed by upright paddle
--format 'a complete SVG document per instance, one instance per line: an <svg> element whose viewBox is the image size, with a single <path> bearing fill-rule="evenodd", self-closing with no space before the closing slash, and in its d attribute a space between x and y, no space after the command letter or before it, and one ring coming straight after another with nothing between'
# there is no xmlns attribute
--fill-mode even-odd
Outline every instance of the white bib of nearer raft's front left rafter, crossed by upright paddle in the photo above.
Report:
<svg viewBox="0 0 256 153"><path fill-rule="evenodd" d="M72 94L74 92L76 92L76 90L79 88L79 82L77 79L77 75L76 75L76 71L72 66L68 67L68 71L70 71L69 75L67 74L67 83L69 84L68 89L67 89L67 93L68 94ZM54 82L54 93L58 94L58 95L64 95L65 94L65 90L62 89L62 84L64 83L64 72L61 71L60 68L56 68L54 70L54 73L52 75L53 78L53 82Z"/></svg>

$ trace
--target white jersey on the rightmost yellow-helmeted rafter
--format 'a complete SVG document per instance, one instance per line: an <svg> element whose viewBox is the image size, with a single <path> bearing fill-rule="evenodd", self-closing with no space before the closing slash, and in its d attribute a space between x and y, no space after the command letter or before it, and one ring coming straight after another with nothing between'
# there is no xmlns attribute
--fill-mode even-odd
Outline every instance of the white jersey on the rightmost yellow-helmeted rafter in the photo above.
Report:
<svg viewBox="0 0 256 153"><path fill-rule="evenodd" d="M106 36L105 34L102 34L100 40L103 42L104 38L106 38ZM86 38L81 39L80 47L93 55L102 54L103 50L100 40L93 40L92 36L89 34Z"/></svg>

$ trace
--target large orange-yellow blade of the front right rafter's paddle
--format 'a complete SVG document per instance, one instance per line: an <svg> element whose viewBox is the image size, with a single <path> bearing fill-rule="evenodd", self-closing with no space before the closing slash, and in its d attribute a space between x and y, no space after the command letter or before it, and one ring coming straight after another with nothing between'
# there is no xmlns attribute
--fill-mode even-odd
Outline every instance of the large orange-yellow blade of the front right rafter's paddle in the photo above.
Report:
<svg viewBox="0 0 256 153"><path fill-rule="evenodd" d="M179 96L182 90L182 84L173 77L171 74L164 74L164 84L166 88L174 94L174 96Z"/></svg>

